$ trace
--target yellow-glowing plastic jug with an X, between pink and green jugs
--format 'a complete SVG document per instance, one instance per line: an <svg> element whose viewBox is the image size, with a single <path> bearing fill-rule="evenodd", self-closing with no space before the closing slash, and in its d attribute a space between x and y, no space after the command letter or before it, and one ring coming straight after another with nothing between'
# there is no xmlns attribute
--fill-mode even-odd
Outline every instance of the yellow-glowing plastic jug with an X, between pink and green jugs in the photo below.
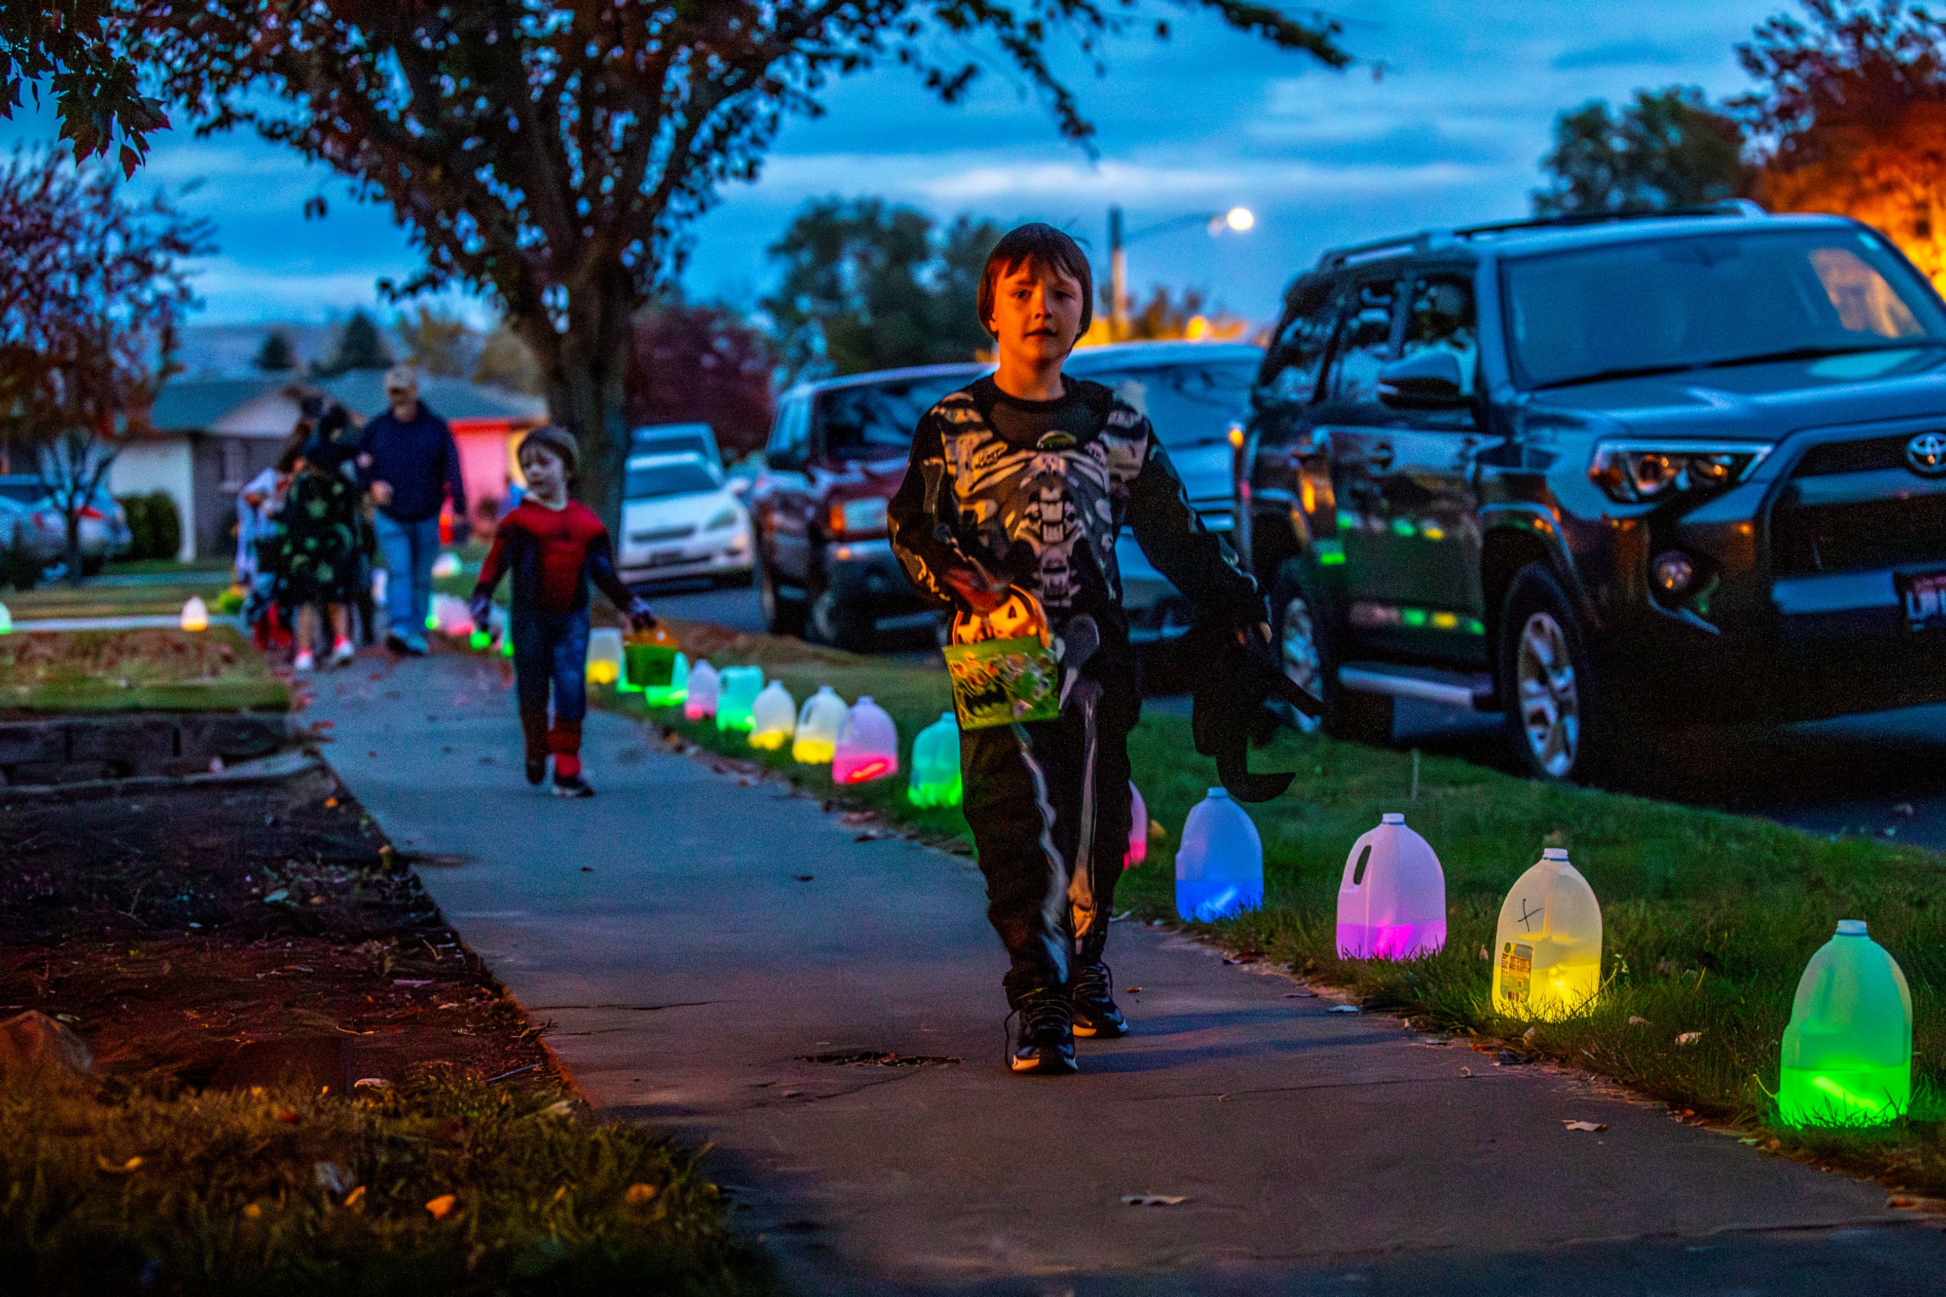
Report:
<svg viewBox="0 0 1946 1297"><path fill-rule="evenodd" d="M1563 1019L1602 990L1602 906L1559 846L1520 875L1495 933L1493 1007Z"/></svg>

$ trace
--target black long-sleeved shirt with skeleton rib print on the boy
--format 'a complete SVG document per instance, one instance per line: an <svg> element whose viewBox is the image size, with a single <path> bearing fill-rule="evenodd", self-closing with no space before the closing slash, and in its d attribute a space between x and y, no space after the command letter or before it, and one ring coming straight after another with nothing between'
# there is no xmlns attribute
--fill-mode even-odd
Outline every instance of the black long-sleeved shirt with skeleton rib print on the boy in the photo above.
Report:
<svg viewBox="0 0 1946 1297"><path fill-rule="evenodd" d="M920 593L957 607L944 574L975 562L1035 593L1059 626L1090 613L1125 632L1115 537L1123 523L1208 613L1263 620L1257 583L1189 508L1148 418L1101 383L1020 401L992 377L919 420L891 500L891 548Z"/></svg>

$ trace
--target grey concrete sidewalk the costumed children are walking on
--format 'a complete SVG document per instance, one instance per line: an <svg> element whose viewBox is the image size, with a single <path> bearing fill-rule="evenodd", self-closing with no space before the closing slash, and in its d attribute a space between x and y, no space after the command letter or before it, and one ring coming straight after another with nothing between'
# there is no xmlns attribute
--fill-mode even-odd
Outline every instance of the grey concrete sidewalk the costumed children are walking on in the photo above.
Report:
<svg viewBox="0 0 1946 1297"><path fill-rule="evenodd" d="M590 1101L710 1141L798 1291L1827 1297L1946 1274L1946 1239L1876 1184L1135 924L1109 955L1136 1034L1082 1042L1080 1077L1014 1077L971 863L860 842L603 714L599 795L529 789L496 661L362 657L315 690L331 762L442 861L420 873L448 922ZM843 1062L883 1052L936 1062Z"/></svg>

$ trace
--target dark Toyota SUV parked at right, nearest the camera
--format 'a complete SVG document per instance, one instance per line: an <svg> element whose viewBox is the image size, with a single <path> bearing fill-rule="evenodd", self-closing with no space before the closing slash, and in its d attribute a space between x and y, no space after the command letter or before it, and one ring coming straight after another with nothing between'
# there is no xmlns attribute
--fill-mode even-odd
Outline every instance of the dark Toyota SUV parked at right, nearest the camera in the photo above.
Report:
<svg viewBox="0 0 1946 1297"><path fill-rule="evenodd" d="M1502 712L1578 780L1658 725L1946 698L1946 303L1728 202L1325 253L1253 395L1242 541L1331 733Z"/></svg>

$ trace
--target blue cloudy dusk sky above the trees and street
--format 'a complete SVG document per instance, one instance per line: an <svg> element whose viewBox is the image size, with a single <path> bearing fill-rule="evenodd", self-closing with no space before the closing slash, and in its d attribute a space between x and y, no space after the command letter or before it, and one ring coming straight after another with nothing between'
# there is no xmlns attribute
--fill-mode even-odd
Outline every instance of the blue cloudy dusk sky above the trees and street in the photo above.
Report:
<svg viewBox="0 0 1946 1297"><path fill-rule="evenodd" d="M1697 84L1748 88L1734 47L1788 0L1374 0L1345 6L1362 62L1306 58L1146 0L1173 39L1129 35L1096 80L1068 58L1099 159L1064 144L1045 107L1004 74L959 107L897 68L839 84L815 121L782 132L755 185L734 185L695 226L693 298L751 307L771 288L765 247L811 196L883 194L940 218L1047 220L1105 261L1105 212L1131 231L1243 204L1247 235L1201 228L1138 241L1131 288L1203 288L1265 321L1288 278L1337 243L1516 218L1541 181L1555 115L1590 97ZM1372 76L1384 64L1384 76ZM0 142L51 136L49 119L0 123ZM138 185L200 179L185 206L216 224L200 274L202 323L317 321L374 305L374 280L416 259L383 206L358 204L321 167L251 136L156 140ZM331 212L302 220L306 198ZM481 315L477 303L469 309Z"/></svg>

